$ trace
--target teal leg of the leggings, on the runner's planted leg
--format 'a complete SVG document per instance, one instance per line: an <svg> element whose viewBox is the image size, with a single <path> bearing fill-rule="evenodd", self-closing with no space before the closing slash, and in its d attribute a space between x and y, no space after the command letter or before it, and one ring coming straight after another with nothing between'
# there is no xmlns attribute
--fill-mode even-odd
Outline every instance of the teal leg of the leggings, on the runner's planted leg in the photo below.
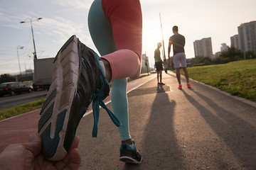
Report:
<svg viewBox="0 0 256 170"><path fill-rule="evenodd" d="M95 0L88 15L88 26L92 40L100 55L108 55L117 51L117 46L112 35L112 27L102 10L102 1ZM112 81L112 108L114 114L122 123L119 126L121 140L129 140L129 116L127 103L127 79Z"/></svg>

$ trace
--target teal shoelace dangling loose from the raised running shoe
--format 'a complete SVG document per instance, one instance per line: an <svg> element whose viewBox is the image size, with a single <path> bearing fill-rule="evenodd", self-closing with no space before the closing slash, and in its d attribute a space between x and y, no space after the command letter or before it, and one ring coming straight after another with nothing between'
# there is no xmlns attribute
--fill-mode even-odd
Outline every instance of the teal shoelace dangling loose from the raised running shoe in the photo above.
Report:
<svg viewBox="0 0 256 170"><path fill-rule="evenodd" d="M103 86L102 86L102 88L103 88ZM114 113L112 113L112 111L110 111L110 109L107 108L105 103L100 99L101 91L102 91L102 89L100 89L100 90L97 89L97 93L94 95L93 101L92 101L92 112L93 112L93 118L94 118L92 137L97 137L97 124L98 124L99 118L100 118L100 106L102 106L102 108L104 108L105 111L107 111L107 113L110 116L110 119L112 120L114 125L116 125L117 127L119 127L121 125L121 123L119 122L118 118L114 115Z"/></svg>

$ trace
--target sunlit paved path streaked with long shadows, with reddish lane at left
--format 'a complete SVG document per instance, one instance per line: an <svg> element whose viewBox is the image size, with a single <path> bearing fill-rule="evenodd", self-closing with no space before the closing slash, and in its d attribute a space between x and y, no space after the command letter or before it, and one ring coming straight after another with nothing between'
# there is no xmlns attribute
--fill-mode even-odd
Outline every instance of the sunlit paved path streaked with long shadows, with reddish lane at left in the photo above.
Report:
<svg viewBox="0 0 256 170"><path fill-rule="evenodd" d="M136 87L147 81L137 89L129 87L134 90L128 94L130 132L144 158L142 164L119 162L118 130L101 109L97 138L91 137L92 114L78 126L80 169L256 169L256 103L197 81L187 89L182 79L183 90L178 90L174 74L163 75L165 86L156 86L156 74L129 83ZM111 103L107 106L112 109ZM38 115L23 123L15 121L21 117L0 122L0 149L6 145L3 137L8 142L21 134L24 140L36 131ZM28 124L33 128L22 131L21 126ZM6 131L8 137L3 136Z"/></svg>

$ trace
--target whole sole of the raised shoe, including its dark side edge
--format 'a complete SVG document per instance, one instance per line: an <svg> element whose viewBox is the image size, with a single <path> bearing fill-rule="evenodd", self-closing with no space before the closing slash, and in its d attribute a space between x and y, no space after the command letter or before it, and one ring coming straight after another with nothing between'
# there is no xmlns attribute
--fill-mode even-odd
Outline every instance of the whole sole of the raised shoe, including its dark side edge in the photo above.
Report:
<svg viewBox="0 0 256 170"><path fill-rule="evenodd" d="M91 102L83 99L88 98L86 91L95 91L95 89L86 89L87 75L81 68L78 43L78 38L73 35L56 55L52 84L38 121L43 154L51 161L63 159L67 154L78 123Z"/></svg>

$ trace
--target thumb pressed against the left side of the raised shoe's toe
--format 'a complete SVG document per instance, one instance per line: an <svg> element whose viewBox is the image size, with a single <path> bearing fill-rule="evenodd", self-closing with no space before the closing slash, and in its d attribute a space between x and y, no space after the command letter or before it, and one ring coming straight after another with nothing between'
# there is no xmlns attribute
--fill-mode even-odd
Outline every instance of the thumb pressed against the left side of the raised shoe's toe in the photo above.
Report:
<svg viewBox="0 0 256 170"><path fill-rule="evenodd" d="M34 156L41 153L42 150L42 140L38 133L31 133L28 136L28 143L23 144L26 149L30 150Z"/></svg>

